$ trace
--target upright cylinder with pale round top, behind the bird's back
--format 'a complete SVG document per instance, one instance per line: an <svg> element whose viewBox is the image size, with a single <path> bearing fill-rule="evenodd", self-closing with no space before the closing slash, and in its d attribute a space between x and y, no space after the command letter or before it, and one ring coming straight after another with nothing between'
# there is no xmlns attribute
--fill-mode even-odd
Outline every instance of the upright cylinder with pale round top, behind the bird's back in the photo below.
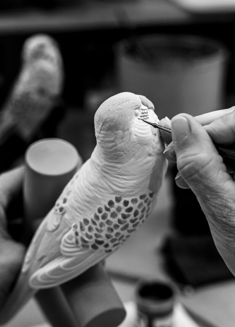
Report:
<svg viewBox="0 0 235 327"><path fill-rule="evenodd" d="M29 146L23 188L26 224L51 210L81 163L76 148L62 139L43 139Z"/></svg>

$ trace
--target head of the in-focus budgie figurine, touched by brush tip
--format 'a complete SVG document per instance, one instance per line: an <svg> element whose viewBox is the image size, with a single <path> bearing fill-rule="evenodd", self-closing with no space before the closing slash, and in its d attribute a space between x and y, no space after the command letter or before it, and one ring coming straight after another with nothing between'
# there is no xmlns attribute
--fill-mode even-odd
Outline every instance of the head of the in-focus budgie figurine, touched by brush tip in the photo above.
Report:
<svg viewBox="0 0 235 327"><path fill-rule="evenodd" d="M159 122L154 106L143 95L123 92L104 101L95 114L97 144L104 155L131 158L159 141L159 131L142 121Z"/></svg>

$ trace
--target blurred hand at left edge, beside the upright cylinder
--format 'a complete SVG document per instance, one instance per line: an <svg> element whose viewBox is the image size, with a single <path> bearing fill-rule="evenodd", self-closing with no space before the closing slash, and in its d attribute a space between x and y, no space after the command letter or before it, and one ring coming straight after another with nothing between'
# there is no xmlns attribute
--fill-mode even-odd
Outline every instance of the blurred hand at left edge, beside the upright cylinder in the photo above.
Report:
<svg viewBox="0 0 235 327"><path fill-rule="evenodd" d="M24 168L19 167L0 175L0 310L21 267L25 248L8 233L7 208L22 188Z"/></svg>

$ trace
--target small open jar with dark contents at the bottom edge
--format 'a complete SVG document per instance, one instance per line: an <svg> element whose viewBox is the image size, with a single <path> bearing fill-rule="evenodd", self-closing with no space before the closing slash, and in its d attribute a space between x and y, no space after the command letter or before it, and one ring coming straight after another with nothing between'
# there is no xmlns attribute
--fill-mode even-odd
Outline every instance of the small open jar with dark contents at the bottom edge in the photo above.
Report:
<svg viewBox="0 0 235 327"><path fill-rule="evenodd" d="M136 327L172 327L175 294L173 287L158 280L143 280L135 291Z"/></svg>

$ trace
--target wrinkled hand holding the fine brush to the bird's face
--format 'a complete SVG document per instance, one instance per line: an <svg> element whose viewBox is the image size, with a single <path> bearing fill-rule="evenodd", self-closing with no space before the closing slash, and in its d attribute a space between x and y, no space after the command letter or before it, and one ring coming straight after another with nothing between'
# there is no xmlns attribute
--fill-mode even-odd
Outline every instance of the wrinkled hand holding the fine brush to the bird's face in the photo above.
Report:
<svg viewBox="0 0 235 327"><path fill-rule="evenodd" d="M171 128L179 170L176 183L195 193L215 245L235 275L235 181L212 142L235 143L235 111L231 109L205 127L194 117L180 114L172 118Z"/></svg>

